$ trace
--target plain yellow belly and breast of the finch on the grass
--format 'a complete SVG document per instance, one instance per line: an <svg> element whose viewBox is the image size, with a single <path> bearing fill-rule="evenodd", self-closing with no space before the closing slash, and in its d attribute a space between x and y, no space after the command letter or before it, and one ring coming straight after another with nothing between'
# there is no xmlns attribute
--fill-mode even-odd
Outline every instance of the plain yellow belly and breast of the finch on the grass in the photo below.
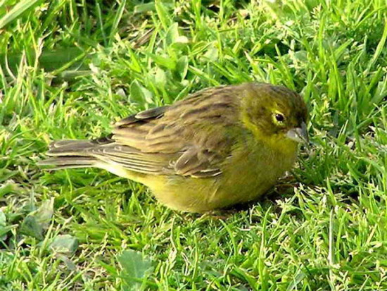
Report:
<svg viewBox="0 0 387 291"><path fill-rule="evenodd" d="M286 153L246 149L250 147L236 149L224 162L222 174L212 178L144 175L123 169L118 173L117 168L115 172L148 186L156 199L171 209L205 212L258 199L291 168L297 153L296 145Z"/></svg>

